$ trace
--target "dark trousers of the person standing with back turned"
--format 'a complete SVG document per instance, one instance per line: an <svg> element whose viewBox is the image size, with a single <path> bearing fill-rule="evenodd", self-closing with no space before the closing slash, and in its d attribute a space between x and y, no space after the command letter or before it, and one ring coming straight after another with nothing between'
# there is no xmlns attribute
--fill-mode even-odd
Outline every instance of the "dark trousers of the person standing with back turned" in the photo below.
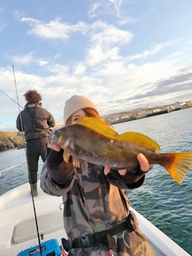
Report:
<svg viewBox="0 0 192 256"><path fill-rule="evenodd" d="M46 137L31 139L26 142L26 153L30 168L29 182L34 184L38 179L38 159L46 161Z"/></svg>

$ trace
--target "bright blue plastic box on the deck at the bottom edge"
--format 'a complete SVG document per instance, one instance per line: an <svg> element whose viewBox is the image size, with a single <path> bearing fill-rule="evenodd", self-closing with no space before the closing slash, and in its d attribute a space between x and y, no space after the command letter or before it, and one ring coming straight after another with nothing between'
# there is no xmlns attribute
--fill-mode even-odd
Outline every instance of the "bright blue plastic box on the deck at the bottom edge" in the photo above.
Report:
<svg viewBox="0 0 192 256"><path fill-rule="evenodd" d="M42 242L41 247L43 256L60 256L62 254L61 248L56 239L50 239L46 242ZM39 245L22 250L17 256L41 256Z"/></svg>

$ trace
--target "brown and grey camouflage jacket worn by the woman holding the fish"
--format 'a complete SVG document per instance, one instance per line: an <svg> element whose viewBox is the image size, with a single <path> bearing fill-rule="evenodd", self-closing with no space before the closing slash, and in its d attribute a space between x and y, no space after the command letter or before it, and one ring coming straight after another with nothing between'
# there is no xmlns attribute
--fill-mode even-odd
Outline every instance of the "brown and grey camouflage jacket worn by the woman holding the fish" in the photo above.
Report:
<svg viewBox="0 0 192 256"><path fill-rule="evenodd" d="M130 213L130 201L125 193L125 189L130 188L129 184L116 179L110 180L103 170L103 166L81 162L70 185L62 189L50 178L46 163L42 168L42 190L46 194L62 196L64 228L70 243L74 238L108 230L125 221ZM138 228L132 232L124 230L121 234L114 235L114 238L118 244L118 248L113 250L114 255L154 255ZM84 249L73 248L68 255L108 256L109 249L97 244Z"/></svg>

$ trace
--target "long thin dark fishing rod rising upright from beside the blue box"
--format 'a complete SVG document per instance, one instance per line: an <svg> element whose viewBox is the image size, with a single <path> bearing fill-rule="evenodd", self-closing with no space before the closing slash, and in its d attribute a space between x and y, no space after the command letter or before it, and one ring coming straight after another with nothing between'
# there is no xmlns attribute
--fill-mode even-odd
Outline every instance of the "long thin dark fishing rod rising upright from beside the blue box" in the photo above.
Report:
<svg viewBox="0 0 192 256"><path fill-rule="evenodd" d="M14 65L12 65L12 68L13 68L13 73L14 73ZM15 86L15 91L16 91L17 101L18 101L18 90L17 90L17 84L16 84L15 75L14 75L14 86ZM26 154L26 142L25 142L25 137L24 137L24 129L23 129L23 125L22 125L22 114L21 114L19 102L17 104L18 104L18 113L19 113L19 117L20 117L20 121L21 121L21 126L22 126L23 145L24 145L25 154ZM42 247L41 247L40 235L39 235L39 231L38 231L38 218L37 218L37 214L36 214L36 210L35 210L35 205L34 205L34 195L33 195L33 192L32 192L32 184L31 184L31 179L30 179L30 166L29 166L27 154L26 154L26 165L27 165L28 176L29 176L29 181L30 181L31 198L32 198L33 207L34 207L34 219L35 219L35 224L36 224L36 229L37 229L37 234L38 234L38 245L39 245L40 254L42 256Z"/></svg>

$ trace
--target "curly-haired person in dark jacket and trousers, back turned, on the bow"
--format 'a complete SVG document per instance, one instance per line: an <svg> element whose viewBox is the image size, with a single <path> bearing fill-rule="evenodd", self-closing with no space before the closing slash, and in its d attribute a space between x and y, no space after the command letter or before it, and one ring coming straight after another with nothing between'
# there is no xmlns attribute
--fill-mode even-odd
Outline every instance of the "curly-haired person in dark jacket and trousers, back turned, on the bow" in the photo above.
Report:
<svg viewBox="0 0 192 256"><path fill-rule="evenodd" d="M27 90L25 109L18 114L17 129L25 132L27 160L30 168L29 181L34 197L38 196L38 159L46 160L46 134L50 134L50 127L55 126L54 117L42 108L42 96L37 90Z"/></svg>

